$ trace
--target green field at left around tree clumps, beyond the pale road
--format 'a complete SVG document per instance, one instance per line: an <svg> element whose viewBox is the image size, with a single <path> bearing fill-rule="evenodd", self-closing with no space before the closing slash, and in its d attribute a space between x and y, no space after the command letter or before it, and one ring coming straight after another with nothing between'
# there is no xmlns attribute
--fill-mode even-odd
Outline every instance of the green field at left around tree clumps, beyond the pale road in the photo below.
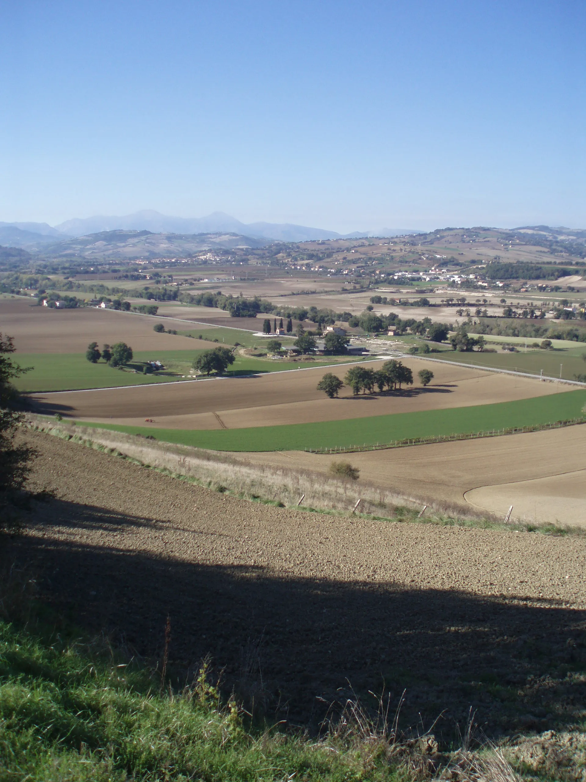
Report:
<svg viewBox="0 0 586 782"><path fill-rule="evenodd" d="M188 375L194 358L202 350L148 350L134 353L130 367L138 369L122 371L110 367L103 361L91 364L84 353L19 353L18 362L22 367L33 367L30 372L16 378L14 385L19 391L75 391L80 389L103 389L113 386L143 386L148 383L177 382ZM141 361L161 361L168 375L142 375ZM348 358L348 361L365 361ZM368 357L366 357L368 361ZM284 371L301 368L335 366L337 361L271 361L270 359L238 356L230 367L228 375L252 375L266 372Z"/></svg>

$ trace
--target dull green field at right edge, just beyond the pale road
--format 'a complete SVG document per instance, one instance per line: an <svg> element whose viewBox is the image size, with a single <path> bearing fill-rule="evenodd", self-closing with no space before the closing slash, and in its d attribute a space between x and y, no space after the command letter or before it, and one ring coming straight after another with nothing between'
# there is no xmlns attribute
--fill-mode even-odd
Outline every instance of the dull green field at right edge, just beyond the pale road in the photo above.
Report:
<svg viewBox="0 0 586 782"><path fill-rule="evenodd" d="M489 339L489 338L488 338ZM511 369L519 372L543 374L550 378L561 377L573 380L574 375L586 374L586 345L575 343L572 348L556 348L555 350L527 350L519 353L456 353L452 350L441 353L444 361L454 361L458 364L474 364L478 367ZM432 357L432 356L431 356Z"/></svg>

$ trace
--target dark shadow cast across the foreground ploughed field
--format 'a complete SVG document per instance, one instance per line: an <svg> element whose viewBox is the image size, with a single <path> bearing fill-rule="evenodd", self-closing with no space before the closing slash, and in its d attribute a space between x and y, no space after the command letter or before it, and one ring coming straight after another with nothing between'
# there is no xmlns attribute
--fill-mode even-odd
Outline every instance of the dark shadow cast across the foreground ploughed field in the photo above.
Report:
<svg viewBox="0 0 586 782"><path fill-rule="evenodd" d="M351 695L348 683L366 702L373 701L368 691L384 687L391 712L406 688L402 729L423 732L444 712L434 733L445 741L456 723L465 725L470 706L493 737L581 722L584 611L523 596L173 561L127 550L133 529L151 525L159 536L164 519L59 500L40 513L43 536L14 536L4 556L37 574L41 599L60 615L89 633L106 629L133 654L160 659L169 615L170 662L181 686L209 654L227 693L234 689L248 704L254 697L255 708L311 730L331 701ZM109 540L52 539L41 516Z"/></svg>

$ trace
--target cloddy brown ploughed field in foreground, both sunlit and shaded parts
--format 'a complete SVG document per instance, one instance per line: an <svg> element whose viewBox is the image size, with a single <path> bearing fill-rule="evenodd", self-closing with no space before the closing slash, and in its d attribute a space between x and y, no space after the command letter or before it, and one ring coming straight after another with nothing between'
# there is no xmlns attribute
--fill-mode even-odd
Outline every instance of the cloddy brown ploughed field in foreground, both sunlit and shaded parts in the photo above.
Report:
<svg viewBox="0 0 586 782"><path fill-rule="evenodd" d="M584 538L371 522L253 503L38 432L38 504L3 555L92 633L205 655L227 691L316 726L348 684L453 734L576 726L586 712ZM419 725L421 730L421 724Z"/></svg>

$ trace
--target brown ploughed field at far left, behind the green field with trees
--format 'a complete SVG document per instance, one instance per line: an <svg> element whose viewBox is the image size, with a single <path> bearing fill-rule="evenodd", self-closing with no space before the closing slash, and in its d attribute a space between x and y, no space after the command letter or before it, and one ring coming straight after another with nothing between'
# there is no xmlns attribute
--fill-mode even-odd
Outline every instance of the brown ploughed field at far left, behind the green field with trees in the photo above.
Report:
<svg viewBox="0 0 586 782"><path fill-rule="evenodd" d="M14 337L19 353L84 353L91 342L125 342L133 350L194 350L189 337L156 334L154 317L116 310L83 307L55 310L37 307L27 300L0 298L0 331ZM189 328L186 323L165 318L166 328ZM216 347L198 340L198 348Z"/></svg>

